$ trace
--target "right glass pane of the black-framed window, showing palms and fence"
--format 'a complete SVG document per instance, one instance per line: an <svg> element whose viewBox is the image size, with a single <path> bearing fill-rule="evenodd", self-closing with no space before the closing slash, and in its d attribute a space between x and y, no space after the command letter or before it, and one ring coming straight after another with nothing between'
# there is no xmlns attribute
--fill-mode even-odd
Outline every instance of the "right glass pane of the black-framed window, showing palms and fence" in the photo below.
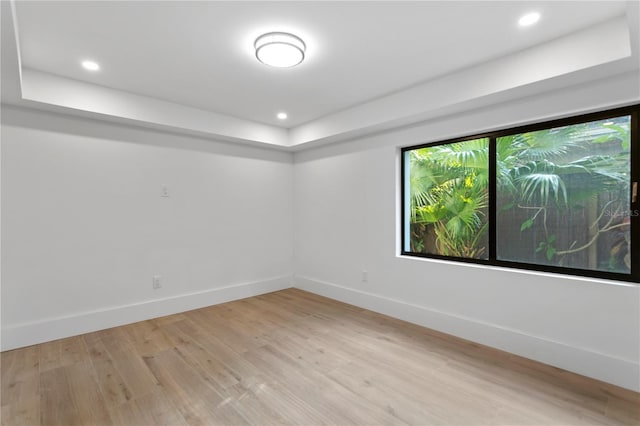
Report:
<svg viewBox="0 0 640 426"><path fill-rule="evenodd" d="M631 117L497 138L497 257L628 273Z"/></svg>

